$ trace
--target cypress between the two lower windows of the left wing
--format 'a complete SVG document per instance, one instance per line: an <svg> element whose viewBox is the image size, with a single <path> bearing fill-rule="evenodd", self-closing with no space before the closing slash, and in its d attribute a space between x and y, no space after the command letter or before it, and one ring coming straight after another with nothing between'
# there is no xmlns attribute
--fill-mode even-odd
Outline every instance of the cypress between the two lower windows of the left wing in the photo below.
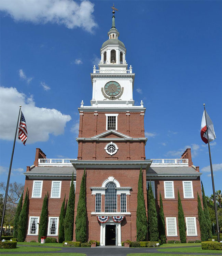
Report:
<svg viewBox="0 0 222 256"><path fill-rule="evenodd" d="M39 243L41 242L41 237L46 237L47 235L47 223L48 223L48 192L44 197L42 204L42 212L40 216L39 224Z"/></svg>

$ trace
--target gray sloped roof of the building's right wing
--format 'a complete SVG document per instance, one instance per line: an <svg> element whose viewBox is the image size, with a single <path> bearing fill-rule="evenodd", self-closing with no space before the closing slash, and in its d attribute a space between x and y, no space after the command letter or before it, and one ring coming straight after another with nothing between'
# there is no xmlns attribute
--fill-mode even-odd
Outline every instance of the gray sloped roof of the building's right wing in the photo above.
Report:
<svg viewBox="0 0 222 256"><path fill-rule="evenodd" d="M150 167L147 176L156 175L201 175L193 167Z"/></svg>

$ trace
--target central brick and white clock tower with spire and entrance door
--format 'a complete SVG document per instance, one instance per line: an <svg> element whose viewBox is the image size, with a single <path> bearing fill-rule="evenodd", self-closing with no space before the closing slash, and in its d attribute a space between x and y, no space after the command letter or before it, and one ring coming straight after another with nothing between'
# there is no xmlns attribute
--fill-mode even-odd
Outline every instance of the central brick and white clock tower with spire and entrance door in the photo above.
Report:
<svg viewBox="0 0 222 256"><path fill-rule="evenodd" d="M114 9L115 10L115 9ZM88 240L100 245L136 240L137 190L140 168L147 209L146 170L151 160L145 159L144 113L134 105L134 77L126 62L126 48L119 40L113 10L108 40L100 49L101 60L93 67L91 106L82 101L77 160L71 160L76 174L78 197L86 168L86 207ZM75 238L75 227L73 238Z"/></svg>

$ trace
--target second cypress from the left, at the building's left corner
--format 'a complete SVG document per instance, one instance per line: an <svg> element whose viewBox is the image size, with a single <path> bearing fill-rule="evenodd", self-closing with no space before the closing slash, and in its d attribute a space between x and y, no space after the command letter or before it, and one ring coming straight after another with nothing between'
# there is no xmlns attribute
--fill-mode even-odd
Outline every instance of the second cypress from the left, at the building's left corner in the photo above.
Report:
<svg viewBox="0 0 222 256"><path fill-rule="evenodd" d="M26 223L28 216L28 189L26 190L24 204L22 206L22 211L20 212L19 220L18 220L18 242L24 242L26 236Z"/></svg>

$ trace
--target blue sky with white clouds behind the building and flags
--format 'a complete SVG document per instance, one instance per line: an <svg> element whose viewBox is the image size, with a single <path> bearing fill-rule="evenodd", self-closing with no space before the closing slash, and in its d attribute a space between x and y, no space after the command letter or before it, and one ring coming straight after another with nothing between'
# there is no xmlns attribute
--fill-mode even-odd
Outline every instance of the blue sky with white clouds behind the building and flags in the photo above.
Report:
<svg viewBox="0 0 222 256"><path fill-rule="evenodd" d="M16 141L11 182L25 182L36 148L47 158L76 158L81 100L90 105L89 73L111 28L111 1L1 1L1 180L7 180L19 105L29 137ZM147 158L180 158L191 147L206 194L208 148L200 138L203 103L221 188L221 1L116 1L116 28L136 73L134 100L147 108ZM12 87L12 88L11 88ZM11 88L11 89L10 89Z"/></svg>

